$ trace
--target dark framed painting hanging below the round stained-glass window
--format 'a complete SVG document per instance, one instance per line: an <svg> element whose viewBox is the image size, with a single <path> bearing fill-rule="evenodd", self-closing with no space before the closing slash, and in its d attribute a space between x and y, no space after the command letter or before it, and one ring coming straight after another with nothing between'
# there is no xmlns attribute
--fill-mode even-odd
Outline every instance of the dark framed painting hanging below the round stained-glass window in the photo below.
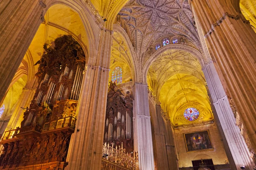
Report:
<svg viewBox="0 0 256 170"><path fill-rule="evenodd" d="M184 133L187 152L214 150L209 130Z"/></svg>

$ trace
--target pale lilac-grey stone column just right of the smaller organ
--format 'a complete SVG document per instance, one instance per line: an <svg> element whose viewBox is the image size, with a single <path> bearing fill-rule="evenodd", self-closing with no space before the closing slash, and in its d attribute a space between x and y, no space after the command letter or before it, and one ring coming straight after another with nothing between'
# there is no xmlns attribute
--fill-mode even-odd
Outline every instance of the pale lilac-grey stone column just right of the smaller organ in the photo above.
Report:
<svg viewBox="0 0 256 170"><path fill-rule="evenodd" d="M134 150L139 154L140 170L154 170L154 154L148 105L148 86L134 84Z"/></svg>

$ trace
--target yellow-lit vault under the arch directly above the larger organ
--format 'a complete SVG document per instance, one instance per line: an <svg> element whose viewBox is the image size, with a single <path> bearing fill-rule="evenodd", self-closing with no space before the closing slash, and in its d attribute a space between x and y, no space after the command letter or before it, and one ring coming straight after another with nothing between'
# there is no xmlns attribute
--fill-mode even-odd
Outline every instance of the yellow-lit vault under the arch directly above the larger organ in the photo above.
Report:
<svg viewBox="0 0 256 170"><path fill-rule="evenodd" d="M44 43L50 45L55 38L63 34L71 34L79 43L84 43L81 44L82 46L88 46L83 23L79 15L69 7L64 5L51 6L44 18L45 22L39 26L28 49L34 63L41 58Z"/></svg>

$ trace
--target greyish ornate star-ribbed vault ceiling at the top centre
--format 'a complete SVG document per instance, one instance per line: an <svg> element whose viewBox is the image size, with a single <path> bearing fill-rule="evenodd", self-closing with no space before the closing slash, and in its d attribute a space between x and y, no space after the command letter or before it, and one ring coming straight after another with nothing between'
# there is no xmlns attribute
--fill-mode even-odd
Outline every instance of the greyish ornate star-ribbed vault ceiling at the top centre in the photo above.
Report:
<svg viewBox="0 0 256 170"><path fill-rule="evenodd" d="M199 44L187 0L130 0L119 14L128 25L137 61L165 34L183 35Z"/></svg>

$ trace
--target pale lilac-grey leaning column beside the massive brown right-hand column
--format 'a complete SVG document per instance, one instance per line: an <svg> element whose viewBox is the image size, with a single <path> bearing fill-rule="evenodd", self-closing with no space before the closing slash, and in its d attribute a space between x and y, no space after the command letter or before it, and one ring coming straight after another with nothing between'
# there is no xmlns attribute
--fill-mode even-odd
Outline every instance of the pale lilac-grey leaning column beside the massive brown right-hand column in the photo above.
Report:
<svg viewBox="0 0 256 170"><path fill-rule="evenodd" d="M240 170L242 166L253 169L253 160L250 158L250 152L240 129L236 126L236 119L213 62L209 62L202 70L215 108L214 117L224 138L224 147L231 169Z"/></svg>

